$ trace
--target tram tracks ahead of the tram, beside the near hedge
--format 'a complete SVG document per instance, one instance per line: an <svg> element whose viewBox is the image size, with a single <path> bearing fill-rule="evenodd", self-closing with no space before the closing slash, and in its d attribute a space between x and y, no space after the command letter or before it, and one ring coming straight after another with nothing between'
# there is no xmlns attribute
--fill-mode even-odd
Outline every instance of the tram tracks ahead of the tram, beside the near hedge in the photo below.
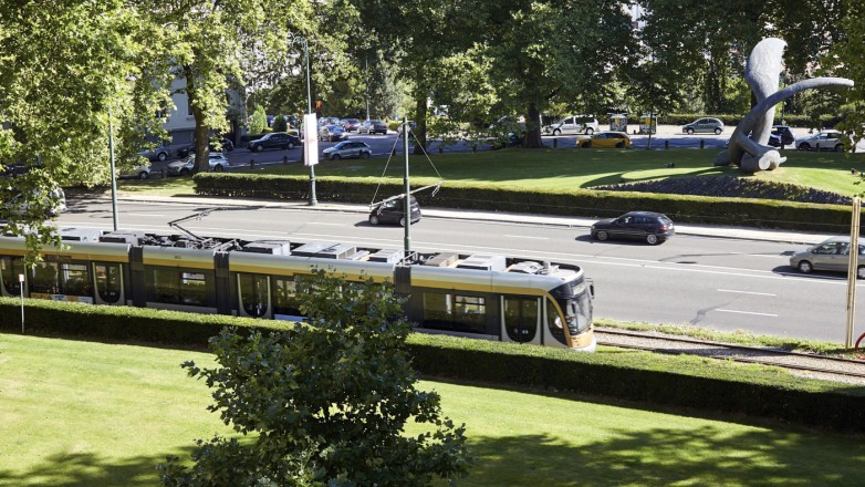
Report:
<svg viewBox="0 0 865 487"><path fill-rule="evenodd" d="M810 379L865 384L865 361L862 360L606 328L596 329L595 336L600 345L773 365Z"/></svg>

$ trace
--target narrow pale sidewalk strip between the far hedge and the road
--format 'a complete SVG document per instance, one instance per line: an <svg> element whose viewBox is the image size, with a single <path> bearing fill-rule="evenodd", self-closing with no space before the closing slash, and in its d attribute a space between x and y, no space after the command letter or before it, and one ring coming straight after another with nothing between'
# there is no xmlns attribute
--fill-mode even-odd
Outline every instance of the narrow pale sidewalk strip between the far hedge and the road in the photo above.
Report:
<svg viewBox="0 0 865 487"><path fill-rule="evenodd" d="M110 197L103 197L110 199ZM212 205L213 207L226 206L251 206L263 208L304 208L311 211L341 211L341 213L356 213L368 214L369 207L366 205L354 204L338 204L319 201L314 207L309 206L309 201L301 200L272 200L272 199L248 199L248 198L213 198L201 196L153 196L153 195L133 195L133 194L118 194L117 199L119 201L143 201L143 203L179 203L189 205ZM506 221L506 222L521 222L530 225L549 225L560 227L574 227L574 228L588 228L597 221L595 218L584 217L563 217L551 215L529 215L529 214L514 214L503 211L477 211L477 210L460 210L448 208L430 208L424 207L424 217L426 218L442 218L442 219L460 219L460 220L477 220L477 221ZM805 232L805 231L791 231L791 230L769 230L757 228L742 228L742 227L728 227L717 225L690 225L690 224L676 224L676 232L680 235L694 235L715 238L734 238L734 239L748 239L748 240L763 240L763 241L777 241L786 244L799 245L814 245L820 244L823 240L831 237L831 234L819 232Z"/></svg>

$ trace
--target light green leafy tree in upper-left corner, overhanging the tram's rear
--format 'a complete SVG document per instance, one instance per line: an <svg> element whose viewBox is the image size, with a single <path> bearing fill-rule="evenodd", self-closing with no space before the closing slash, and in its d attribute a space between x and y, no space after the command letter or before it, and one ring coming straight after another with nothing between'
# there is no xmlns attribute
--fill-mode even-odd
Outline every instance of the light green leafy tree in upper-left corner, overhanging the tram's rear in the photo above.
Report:
<svg viewBox="0 0 865 487"><path fill-rule="evenodd" d="M59 241L44 222L51 190L108 180L110 123L128 165L140 134L159 133L153 114L168 100L147 69L161 53L152 28L125 0L0 2L0 169L31 169L0 183L0 218L7 231L31 229L30 260ZM9 214L17 191L25 215Z"/></svg>

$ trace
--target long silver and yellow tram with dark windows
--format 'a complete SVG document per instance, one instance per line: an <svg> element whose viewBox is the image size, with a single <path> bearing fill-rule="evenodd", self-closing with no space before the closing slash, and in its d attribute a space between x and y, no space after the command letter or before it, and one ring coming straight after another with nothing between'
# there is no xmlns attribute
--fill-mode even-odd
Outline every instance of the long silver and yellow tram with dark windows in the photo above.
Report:
<svg viewBox="0 0 865 487"><path fill-rule="evenodd" d="M595 348L594 290L573 265L490 253L404 257L347 242L59 231L64 247L45 248L31 268L24 239L0 237L2 296L300 321L295 279L326 269L350 281L393 282L419 332Z"/></svg>

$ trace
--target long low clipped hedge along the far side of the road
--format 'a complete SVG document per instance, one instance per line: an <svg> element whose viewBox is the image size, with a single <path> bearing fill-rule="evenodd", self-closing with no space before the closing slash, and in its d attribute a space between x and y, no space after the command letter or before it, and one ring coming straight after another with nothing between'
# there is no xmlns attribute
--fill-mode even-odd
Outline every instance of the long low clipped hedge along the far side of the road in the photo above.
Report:
<svg viewBox="0 0 865 487"><path fill-rule="evenodd" d="M202 173L195 176L195 191L221 197L308 199L310 182L304 176ZM373 178L321 177L320 201L368 204L378 194L403 190L399 183ZM772 199L721 198L592 189L543 190L482 184L450 183L436 196L416 195L421 206L466 210L543 215L613 217L633 208L667 214L676 221L733 225L789 230L836 232L850 226L850 208L837 205Z"/></svg>

